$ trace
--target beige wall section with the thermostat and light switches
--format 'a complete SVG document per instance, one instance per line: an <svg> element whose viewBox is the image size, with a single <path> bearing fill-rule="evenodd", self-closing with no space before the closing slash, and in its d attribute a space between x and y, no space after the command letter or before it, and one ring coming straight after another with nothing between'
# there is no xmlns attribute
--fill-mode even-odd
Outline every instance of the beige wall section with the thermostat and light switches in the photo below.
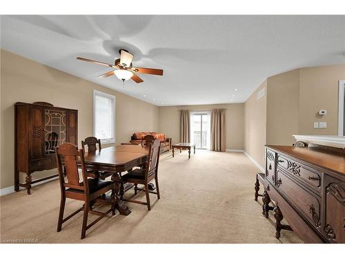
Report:
<svg viewBox="0 0 345 258"><path fill-rule="evenodd" d="M345 80L345 65L300 69L299 134L338 134L339 80ZM319 109L326 109L327 114L319 116ZM314 129L313 122L327 122L327 128Z"/></svg>

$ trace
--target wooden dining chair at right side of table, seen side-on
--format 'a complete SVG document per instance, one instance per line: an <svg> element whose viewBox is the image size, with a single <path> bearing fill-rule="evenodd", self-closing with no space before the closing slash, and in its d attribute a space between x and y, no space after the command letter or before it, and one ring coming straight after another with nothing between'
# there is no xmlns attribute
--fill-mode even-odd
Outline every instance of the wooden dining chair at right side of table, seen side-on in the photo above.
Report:
<svg viewBox="0 0 345 258"><path fill-rule="evenodd" d="M139 191L145 191L146 202L140 202L137 200L124 200L123 199L124 201L134 202L137 204L145 204L148 206L148 211L150 211L151 205L150 205L149 193L153 193L153 194L157 195L157 198L160 199L158 177L157 177L160 149L161 149L161 142L158 139L153 140L152 144L150 144L150 147L149 147L148 161L146 164L146 168L145 169L135 169L133 171L128 172L126 175L121 176L122 186L124 185L124 183L134 184L135 195L137 195L138 190ZM152 180L155 180L156 192L149 190L148 184ZM143 184L144 189L138 189L138 187L137 187L138 184ZM126 191L128 191L132 187L126 189ZM123 198L123 197L121 196L121 198Z"/></svg>

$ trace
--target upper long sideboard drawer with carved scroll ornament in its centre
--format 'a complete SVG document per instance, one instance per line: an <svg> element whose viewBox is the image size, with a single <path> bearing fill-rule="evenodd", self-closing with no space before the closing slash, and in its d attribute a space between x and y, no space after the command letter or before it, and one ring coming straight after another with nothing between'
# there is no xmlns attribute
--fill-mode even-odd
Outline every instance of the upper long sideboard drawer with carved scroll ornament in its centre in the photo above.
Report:
<svg viewBox="0 0 345 258"><path fill-rule="evenodd" d="M295 160L290 160L282 155L278 155L278 166L286 169L291 175L293 175L297 180L312 186L313 189L321 192L321 177L319 173L307 166L295 162Z"/></svg>

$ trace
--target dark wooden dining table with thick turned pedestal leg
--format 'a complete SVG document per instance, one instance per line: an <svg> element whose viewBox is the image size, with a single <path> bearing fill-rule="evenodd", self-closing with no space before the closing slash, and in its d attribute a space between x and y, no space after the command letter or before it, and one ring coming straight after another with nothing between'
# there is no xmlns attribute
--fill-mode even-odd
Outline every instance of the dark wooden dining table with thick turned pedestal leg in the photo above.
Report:
<svg viewBox="0 0 345 258"><path fill-rule="evenodd" d="M121 173L131 171L133 167L144 164L147 160L148 148L141 145L120 145L102 148L100 151L85 153L86 169L112 173L111 180L115 182L108 202L114 202L121 215L130 214L130 209L119 197L121 191Z"/></svg>

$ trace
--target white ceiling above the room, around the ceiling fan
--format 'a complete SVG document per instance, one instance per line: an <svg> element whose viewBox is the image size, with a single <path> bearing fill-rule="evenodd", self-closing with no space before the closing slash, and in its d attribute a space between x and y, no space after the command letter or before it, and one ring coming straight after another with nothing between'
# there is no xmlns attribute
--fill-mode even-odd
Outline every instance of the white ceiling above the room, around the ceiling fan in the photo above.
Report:
<svg viewBox="0 0 345 258"><path fill-rule="evenodd" d="M158 106L243 103L268 76L345 63L345 16L2 16L1 48ZM123 87L75 59L120 48L164 76Z"/></svg>

